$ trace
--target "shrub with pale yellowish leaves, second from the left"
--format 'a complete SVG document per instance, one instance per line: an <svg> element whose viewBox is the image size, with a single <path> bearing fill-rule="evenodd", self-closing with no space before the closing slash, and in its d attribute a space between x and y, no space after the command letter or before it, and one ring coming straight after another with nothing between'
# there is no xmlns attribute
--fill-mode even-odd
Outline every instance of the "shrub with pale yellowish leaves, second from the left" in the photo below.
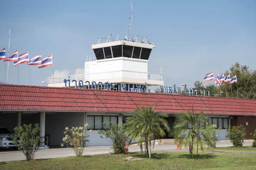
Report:
<svg viewBox="0 0 256 170"><path fill-rule="evenodd" d="M88 124L85 124L84 127L88 126ZM89 135L85 134L84 127L66 127L64 131L65 137L62 139L64 143L61 144L61 147L64 147L64 145L67 147L72 147L76 153L76 156L82 156L84 145L89 137Z"/></svg>

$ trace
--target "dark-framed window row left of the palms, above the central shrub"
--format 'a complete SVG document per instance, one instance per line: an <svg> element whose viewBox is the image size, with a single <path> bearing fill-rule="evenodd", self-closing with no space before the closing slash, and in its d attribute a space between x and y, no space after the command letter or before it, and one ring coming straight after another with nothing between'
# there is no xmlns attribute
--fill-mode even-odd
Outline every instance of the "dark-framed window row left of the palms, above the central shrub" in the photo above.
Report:
<svg viewBox="0 0 256 170"><path fill-rule="evenodd" d="M118 123L118 116L87 116L88 130L102 129L102 123L106 124L106 128L110 127L109 122L112 124Z"/></svg>

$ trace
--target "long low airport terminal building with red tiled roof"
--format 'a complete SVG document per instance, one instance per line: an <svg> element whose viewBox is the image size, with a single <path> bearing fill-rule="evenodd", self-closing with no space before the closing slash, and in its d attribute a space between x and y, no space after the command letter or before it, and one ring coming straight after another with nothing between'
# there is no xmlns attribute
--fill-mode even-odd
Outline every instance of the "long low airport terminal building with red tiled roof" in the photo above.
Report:
<svg viewBox="0 0 256 170"><path fill-rule="evenodd" d="M23 124L39 123L41 137L48 136L51 147L62 143L65 127L88 123L86 133L90 137L86 146L111 145L111 141L98 134L101 124L122 124L142 105L156 105L156 112L169 114L170 128L175 115L191 111L193 105L195 113L203 111L210 124L223 128L220 140L226 139L227 125L246 127L246 139L256 129L253 99L5 84L0 85L0 126L12 130ZM166 138L172 138L171 134L166 133Z"/></svg>

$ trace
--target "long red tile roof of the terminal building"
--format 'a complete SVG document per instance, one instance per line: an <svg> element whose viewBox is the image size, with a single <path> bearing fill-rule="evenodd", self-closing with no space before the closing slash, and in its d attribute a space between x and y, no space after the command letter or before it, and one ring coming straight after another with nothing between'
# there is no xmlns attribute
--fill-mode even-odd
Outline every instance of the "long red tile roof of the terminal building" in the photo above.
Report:
<svg viewBox="0 0 256 170"><path fill-rule="evenodd" d="M256 100L92 89L0 85L0 111L133 112L142 105L155 111L203 111L218 115L256 116Z"/></svg>

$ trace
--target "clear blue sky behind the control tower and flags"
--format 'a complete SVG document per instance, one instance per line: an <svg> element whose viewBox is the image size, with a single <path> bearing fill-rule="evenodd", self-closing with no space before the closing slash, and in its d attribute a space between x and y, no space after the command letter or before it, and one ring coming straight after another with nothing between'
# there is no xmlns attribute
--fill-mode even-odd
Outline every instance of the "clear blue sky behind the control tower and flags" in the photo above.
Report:
<svg viewBox="0 0 256 170"><path fill-rule="evenodd" d="M156 44L148 72L160 73L157 67L163 65L166 86L193 87L205 74L214 71L216 77L235 62L256 69L255 0L132 3L131 34L147 36ZM91 44L97 36L128 32L129 8L129 0L2 1L0 48L8 48L10 29L10 53L29 51L30 58L52 54L56 74L74 74L76 68L84 68L86 56L93 55ZM4 67L0 61L1 82L5 82ZM41 69L30 68L32 85L45 85ZM9 71L9 83L17 84L12 62ZM22 64L19 72L20 84L29 85L29 67ZM52 67L43 68L44 80L51 74Z"/></svg>

